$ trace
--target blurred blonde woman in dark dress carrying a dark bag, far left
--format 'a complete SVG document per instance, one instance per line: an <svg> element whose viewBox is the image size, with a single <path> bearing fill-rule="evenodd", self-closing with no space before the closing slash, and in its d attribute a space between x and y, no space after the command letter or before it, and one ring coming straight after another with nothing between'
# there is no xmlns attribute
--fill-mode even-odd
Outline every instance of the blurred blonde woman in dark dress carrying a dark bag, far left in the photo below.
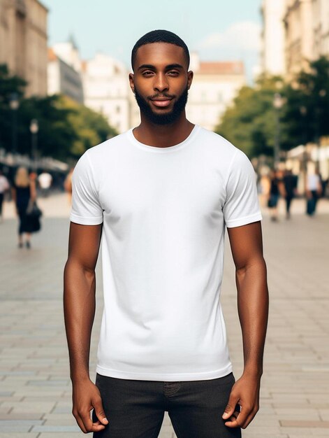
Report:
<svg viewBox="0 0 329 438"><path fill-rule="evenodd" d="M13 201L15 202L17 216L20 220L18 227L18 248L25 246L31 248L31 232L27 221L27 207L29 202L36 200L36 179L31 178L25 167L19 167L12 187Z"/></svg>

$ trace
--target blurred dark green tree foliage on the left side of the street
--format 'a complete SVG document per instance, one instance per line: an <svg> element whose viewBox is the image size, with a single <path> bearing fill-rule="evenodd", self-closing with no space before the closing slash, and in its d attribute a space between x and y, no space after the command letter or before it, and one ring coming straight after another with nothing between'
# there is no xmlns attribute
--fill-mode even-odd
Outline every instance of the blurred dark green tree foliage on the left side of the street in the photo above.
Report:
<svg viewBox="0 0 329 438"><path fill-rule="evenodd" d="M38 155L59 160L78 158L88 148L105 141L117 132L103 115L86 106L76 104L61 95L24 98L27 83L10 76L0 65L0 147L12 148L13 110L10 95L17 94L20 101L17 116L17 152L31 154L32 119L38 120Z"/></svg>

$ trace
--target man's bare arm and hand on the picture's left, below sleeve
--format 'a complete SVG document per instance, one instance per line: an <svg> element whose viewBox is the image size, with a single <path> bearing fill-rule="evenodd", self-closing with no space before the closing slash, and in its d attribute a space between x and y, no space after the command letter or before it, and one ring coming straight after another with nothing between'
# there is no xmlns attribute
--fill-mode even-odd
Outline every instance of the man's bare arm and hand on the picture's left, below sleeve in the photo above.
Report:
<svg viewBox="0 0 329 438"><path fill-rule="evenodd" d="M73 386L73 416L82 432L103 430L108 424L101 395L89 378L89 351L96 299L95 267L102 225L71 222L68 260L64 269L64 319ZM98 421L92 423L95 409Z"/></svg>

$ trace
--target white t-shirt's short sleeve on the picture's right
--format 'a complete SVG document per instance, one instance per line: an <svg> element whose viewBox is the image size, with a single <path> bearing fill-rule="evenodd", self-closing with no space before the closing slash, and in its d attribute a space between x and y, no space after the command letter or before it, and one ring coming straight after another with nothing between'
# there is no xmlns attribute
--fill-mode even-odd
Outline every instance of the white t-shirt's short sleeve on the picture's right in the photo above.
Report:
<svg viewBox="0 0 329 438"><path fill-rule="evenodd" d="M223 207L226 227L240 227L262 219L259 208L256 174L247 155L237 149L226 178Z"/></svg>

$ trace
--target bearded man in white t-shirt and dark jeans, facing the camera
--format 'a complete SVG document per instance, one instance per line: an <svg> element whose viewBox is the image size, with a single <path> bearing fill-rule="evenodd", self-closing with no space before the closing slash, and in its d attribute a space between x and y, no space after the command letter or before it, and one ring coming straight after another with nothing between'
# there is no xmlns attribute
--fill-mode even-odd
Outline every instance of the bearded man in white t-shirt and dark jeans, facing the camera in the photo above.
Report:
<svg viewBox="0 0 329 438"><path fill-rule="evenodd" d="M193 73L181 38L142 36L132 67L140 125L88 150L73 174L64 278L73 415L94 437L157 437L164 411L178 438L240 437L258 411L268 316L254 169L231 143L187 120ZM225 226L244 344L236 383L219 302Z"/></svg>

